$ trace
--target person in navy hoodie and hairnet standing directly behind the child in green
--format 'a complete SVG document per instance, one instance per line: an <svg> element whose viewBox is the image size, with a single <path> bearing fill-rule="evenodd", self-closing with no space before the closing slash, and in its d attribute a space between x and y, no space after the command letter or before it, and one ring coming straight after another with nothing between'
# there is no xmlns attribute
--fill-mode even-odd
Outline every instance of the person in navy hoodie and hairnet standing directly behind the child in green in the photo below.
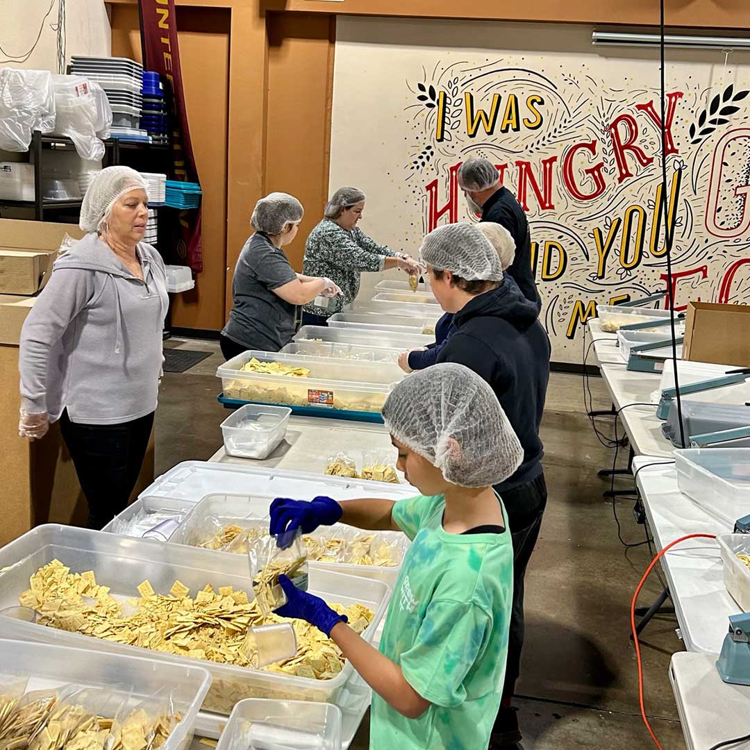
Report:
<svg viewBox="0 0 750 750"><path fill-rule="evenodd" d="M523 579L547 504L539 425L550 375L550 341L538 306L502 281L497 255L476 226L440 226L425 237L422 260L455 332L437 362L465 365L490 384L520 440L523 463L495 490L508 513L514 547L514 590L508 664L491 748L520 748L511 707L523 646Z"/></svg>

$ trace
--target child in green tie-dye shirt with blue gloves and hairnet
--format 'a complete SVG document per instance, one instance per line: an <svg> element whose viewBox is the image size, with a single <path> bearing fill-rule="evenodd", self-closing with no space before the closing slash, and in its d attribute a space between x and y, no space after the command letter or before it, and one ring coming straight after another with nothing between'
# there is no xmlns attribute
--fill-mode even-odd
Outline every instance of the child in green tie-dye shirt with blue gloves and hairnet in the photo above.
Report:
<svg viewBox="0 0 750 750"><path fill-rule="evenodd" d="M490 387L463 365L407 377L383 417L398 468L422 495L271 505L280 538L341 520L412 540L380 652L284 577L289 601L277 613L328 634L374 689L372 750L481 750L500 702L513 586L511 536L492 485L514 472L522 450Z"/></svg>

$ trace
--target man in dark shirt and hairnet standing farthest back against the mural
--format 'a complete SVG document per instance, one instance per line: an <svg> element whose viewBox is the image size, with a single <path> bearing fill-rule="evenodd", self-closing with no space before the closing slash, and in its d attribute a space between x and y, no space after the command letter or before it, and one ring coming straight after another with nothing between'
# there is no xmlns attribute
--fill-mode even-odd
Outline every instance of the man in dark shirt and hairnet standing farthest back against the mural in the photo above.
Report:
<svg viewBox="0 0 750 750"><path fill-rule="evenodd" d="M541 299L531 270L529 221L513 193L500 184L495 165L487 159L463 162L458 170L458 184L469 208L481 214L481 221L502 224L511 233L516 244L516 256L505 273L514 278L523 296L541 310Z"/></svg>

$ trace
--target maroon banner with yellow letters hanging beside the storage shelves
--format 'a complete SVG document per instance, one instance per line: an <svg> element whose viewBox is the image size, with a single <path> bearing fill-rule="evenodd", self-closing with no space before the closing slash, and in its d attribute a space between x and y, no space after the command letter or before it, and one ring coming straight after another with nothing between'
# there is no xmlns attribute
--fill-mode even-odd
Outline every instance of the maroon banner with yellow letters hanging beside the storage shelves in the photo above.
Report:
<svg viewBox="0 0 750 750"><path fill-rule="evenodd" d="M143 68L146 71L155 71L163 78L166 104L168 110L171 110L169 123L174 126L171 133L172 173L169 176L184 182L199 182L182 91L175 2L174 0L138 0L138 8ZM178 257L196 273L203 270L200 227L200 208L180 211Z"/></svg>

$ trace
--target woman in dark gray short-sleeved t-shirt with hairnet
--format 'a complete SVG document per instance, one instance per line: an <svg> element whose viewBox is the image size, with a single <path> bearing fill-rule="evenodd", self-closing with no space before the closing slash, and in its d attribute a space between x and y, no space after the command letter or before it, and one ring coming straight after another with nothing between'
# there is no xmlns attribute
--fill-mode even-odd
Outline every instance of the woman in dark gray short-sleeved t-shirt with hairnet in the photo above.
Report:
<svg viewBox="0 0 750 750"><path fill-rule="evenodd" d="M278 352L292 341L299 306L341 290L329 278L303 276L292 268L284 245L297 236L302 203L287 193L270 193L255 205L255 229L239 254L232 282L234 307L220 335L224 359L247 350Z"/></svg>

